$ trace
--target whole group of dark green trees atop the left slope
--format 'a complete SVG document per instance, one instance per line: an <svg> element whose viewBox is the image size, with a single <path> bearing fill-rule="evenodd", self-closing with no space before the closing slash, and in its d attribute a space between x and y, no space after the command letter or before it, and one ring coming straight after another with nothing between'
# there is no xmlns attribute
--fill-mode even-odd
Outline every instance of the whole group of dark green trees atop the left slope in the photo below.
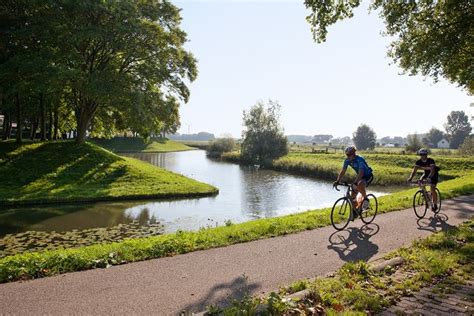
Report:
<svg viewBox="0 0 474 316"><path fill-rule="evenodd" d="M60 131L147 137L179 128L196 60L169 1L4 0L0 3L2 135Z"/></svg>

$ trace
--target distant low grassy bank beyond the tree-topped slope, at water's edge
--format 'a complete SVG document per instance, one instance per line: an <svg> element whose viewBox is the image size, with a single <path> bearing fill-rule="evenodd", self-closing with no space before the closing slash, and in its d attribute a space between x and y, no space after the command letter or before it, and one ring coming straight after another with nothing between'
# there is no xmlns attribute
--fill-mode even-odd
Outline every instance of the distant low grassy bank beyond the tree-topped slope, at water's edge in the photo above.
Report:
<svg viewBox="0 0 474 316"><path fill-rule="evenodd" d="M183 143L163 138L152 138L148 142L145 142L141 137L114 137L111 139L95 138L91 139L90 142L117 153L163 153L194 149Z"/></svg>

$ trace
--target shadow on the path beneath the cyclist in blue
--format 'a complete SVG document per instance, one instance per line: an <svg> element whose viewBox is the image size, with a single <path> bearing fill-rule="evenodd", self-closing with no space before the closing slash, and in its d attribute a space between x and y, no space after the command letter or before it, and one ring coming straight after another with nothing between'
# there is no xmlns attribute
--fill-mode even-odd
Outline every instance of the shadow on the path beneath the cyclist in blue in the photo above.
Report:
<svg viewBox="0 0 474 316"><path fill-rule="evenodd" d="M379 250L379 246L370 241L370 237L380 230L377 224L368 224L358 228L337 231L329 236L328 249L334 250L343 261L368 260Z"/></svg>

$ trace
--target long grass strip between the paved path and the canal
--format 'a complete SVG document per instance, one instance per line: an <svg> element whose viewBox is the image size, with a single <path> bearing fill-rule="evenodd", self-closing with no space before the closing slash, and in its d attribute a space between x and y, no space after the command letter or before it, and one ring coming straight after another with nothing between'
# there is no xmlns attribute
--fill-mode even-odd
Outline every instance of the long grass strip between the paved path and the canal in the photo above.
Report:
<svg viewBox="0 0 474 316"><path fill-rule="evenodd" d="M474 194L474 172L442 182L439 188L444 199ZM415 191L415 189L409 189L380 197L380 212L411 207ZM0 282L107 267L296 233L330 225L330 211L326 208L241 224L228 222L226 226L195 232L178 231L173 234L130 239L123 242L8 256L0 259Z"/></svg>

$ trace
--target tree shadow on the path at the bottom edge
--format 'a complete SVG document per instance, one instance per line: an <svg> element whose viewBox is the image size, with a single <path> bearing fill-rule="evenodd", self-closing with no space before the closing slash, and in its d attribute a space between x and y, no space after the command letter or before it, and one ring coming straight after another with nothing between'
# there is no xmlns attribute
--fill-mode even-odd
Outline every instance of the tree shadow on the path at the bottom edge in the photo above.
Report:
<svg viewBox="0 0 474 316"><path fill-rule="evenodd" d="M233 300L241 300L247 295L255 295L255 290L258 288L260 288L259 283L249 283L248 276L243 274L230 282L216 284L209 289L204 298L186 306L184 311L187 315L190 312L204 311L210 305L227 307Z"/></svg>

